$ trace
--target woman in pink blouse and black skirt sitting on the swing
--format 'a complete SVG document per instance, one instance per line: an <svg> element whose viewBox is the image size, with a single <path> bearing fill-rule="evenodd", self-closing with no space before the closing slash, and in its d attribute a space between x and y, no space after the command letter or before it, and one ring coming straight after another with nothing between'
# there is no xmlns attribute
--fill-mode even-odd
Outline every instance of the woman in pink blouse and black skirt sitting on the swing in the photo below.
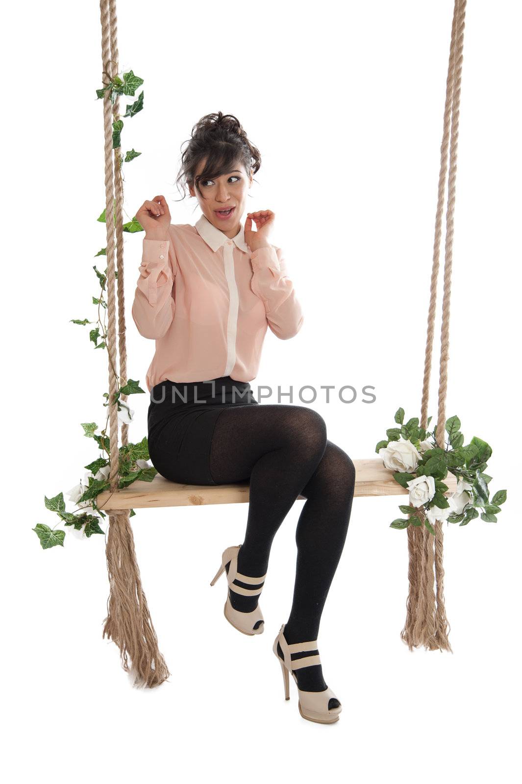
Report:
<svg viewBox="0 0 522 784"><path fill-rule="evenodd" d="M184 180L202 214L194 226L172 224L163 196L143 202L132 318L156 341L148 445L159 474L196 485L249 480L245 539L224 550L211 583L226 571L225 615L237 630L263 632L258 601L270 546L297 496L306 498L292 608L273 649L286 699L292 673L303 718L330 724L341 703L324 681L317 633L346 539L355 470L317 412L259 405L250 388L267 327L285 340L303 324L281 249L269 241L274 212L247 212L241 226L260 164L234 115L208 114L194 125L176 182Z"/></svg>

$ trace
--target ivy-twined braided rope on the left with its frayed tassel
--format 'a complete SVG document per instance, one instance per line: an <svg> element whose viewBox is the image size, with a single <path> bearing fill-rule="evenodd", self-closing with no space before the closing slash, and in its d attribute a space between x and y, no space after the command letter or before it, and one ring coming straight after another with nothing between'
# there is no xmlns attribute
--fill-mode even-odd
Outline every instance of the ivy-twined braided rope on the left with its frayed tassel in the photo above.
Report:
<svg viewBox="0 0 522 784"><path fill-rule="evenodd" d="M103 84L109 83L111 75L118 72L117 16L115 0L100 0L102 27ZM115 56L111 59L111 53ZM118 171L118 158L112 153L112 103L110 90L103 95L103 133L105 151L105 193L107 226L107 355L109 358L109 423L111 439L111 492L118 487L118 413L114 397L118 391L116 358L116 301L114 294L114 170ZM121 199L117 211L116 234L120 245L118 270L123 266L122 189L117 185ZM118 274L119 278L119 274ZM121 299L120 299L121 302ZM125 330L123 330L125 331ZM125 347L125 335L124 347ZM136 561L134 537L129 521L129 510L113 510L109 514L106 544L107 572L110 595L107 601L107 618L104 621L103 637L107 635L120 649L121 664L132 673L133 685L158 686L169 677L169 670L158 649L158 639L150 619L147 599L143 593L140 570ZM129 659L131 666L129 666Z"/></svg>

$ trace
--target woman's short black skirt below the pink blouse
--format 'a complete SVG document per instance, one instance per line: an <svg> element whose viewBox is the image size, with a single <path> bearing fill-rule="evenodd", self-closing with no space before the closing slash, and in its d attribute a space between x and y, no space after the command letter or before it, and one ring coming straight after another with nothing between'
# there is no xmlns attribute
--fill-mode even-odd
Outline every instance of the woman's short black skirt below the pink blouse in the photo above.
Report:
<svg viewBox="0 0 522 784"><path fill-rule="evenodd" d="M224 408L259 405L248 381L230 376L208 381L161 381L150 390L150 462L165 479L183 485L216 485L210 445Z"/></svg>

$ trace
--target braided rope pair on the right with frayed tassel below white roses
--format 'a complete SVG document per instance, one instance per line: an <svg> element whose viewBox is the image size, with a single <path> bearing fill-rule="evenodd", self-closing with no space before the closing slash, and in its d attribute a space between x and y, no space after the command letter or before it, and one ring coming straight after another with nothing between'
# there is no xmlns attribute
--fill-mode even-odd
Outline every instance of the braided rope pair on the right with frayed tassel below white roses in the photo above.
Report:
<svg viewBox="0 0 522 784"><path fill-rule="evenodd" d="M437 194L437 211L435 219L435 237L433 241L433 267L430 281L430 306L428 310L428 325L426 335L426 357L422 385L421 426L427 427L427 410L430 391L431 359L433 354L433 336L435 310L437 306L437 280L439 274L440 238L442 234L442 216L444 212L445 179L448 172L448 149L450 154L450 182L448 194L453 193L453 203L450 207L448 198L448 214L451 220L451 233L447 233L445 242L444 266L444 299L443 305L441 343L445 348L441 350L440 387L439 387L439 416L437 421L443 423L442 430L437 427L437 443L444 446L444 408L447 391L447 362L449 339L449 291L451 289L451 250L453 241L453 211L455 205L455 165L456 140L458 138L460 74L462 74L462 44L463 28L466 9L466 0L455 0L453 20L451 24L451 45L448 60L448 78L446 80L446 100L444 103L443 137L440 145L440 172ZM458 87L456 87L458 85ZM455 109L457 124L455 125ZM451 131L450 131L451 127ZM451 140L450 140L451 136ZM453 154L452 154L453 152ZM449 264L448 264L449 260ZM444 355L444 359L443 359ZM442 408L441 408L442 406ZM433 551L434 548L434 551ZM437 648L451 650L448 641L449 624L444 608L444 568L443 568L443 533L442 525L435 525L435 536L432 539L426 528L408 528L408 600L407 615L401 638L413 648L421 644L434 650ZM433 565L435 566L435 581L437 593L433 586Z"/></svg>

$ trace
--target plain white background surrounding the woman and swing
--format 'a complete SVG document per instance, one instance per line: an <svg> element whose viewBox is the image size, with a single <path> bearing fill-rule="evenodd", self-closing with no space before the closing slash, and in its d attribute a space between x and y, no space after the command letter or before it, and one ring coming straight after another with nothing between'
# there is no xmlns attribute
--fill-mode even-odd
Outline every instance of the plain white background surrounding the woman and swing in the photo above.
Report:
<svg viewBox="0 0 522 784"><path fill-rule="evenodd" d="M123 132L124 149L142 152L125 164L127 216L161 193L173 223L195 223L194 199L175 201L180 146L204 114L240 119L263 158L248 209L276 213L272 241L305 312L294 339L267 332L252 388L373 385L372 405L361 394L351 405L311 404L354 458L374 455L399 406L419 415L452 8L118 3L119 71L145 80L144 109ZM324 677L343 702L333 726L299 717L295 684L285 702L271 651L290 609L302 501L274 540L266 631L252 640L223 618L224 579L209 586L222 550L242 540L246 506L132 518L173 673L153 690L131 688L101 637L103 537L68 532L63 549L43 551L31 531L55 524L44 495L82 478L97 450L80 423L101 424L106 412L107 354L70 321L96 319L92 264L103 269L94 259L105 245L100 12L96 2L33 0L23 16L4 13L6 780L514 781L520 4L468 3L447 406L466 439L493 447L491 487L507 488L508 501L496 525L444 528L448 654L408 652L399 637L407 543L389 523L400 499L355 499L319 637ZM144 388L154 343L130 314L141 240L125 234L129 376ZM137 441L148 396L131 401Z"/></svg>

